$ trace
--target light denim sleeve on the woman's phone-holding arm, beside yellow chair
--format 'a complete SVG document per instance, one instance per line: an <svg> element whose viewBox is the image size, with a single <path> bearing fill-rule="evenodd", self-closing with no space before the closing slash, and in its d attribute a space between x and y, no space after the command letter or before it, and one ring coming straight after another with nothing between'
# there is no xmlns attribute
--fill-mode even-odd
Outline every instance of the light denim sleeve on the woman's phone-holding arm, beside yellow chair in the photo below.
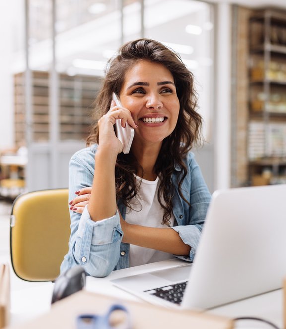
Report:
<svg viewBox="0 0 286 329"><path fill-rule="evenodd" d="M76 196L77 190L92 186L93 165L94 153L82 152L71 158L69 200ZM61 272L79 264L92 276L104 277L110 274L118 262L123 236L118 211L110 218L94 222L86 206L82 214L70 210L70 217L69 251L64 257Z"/></svg>

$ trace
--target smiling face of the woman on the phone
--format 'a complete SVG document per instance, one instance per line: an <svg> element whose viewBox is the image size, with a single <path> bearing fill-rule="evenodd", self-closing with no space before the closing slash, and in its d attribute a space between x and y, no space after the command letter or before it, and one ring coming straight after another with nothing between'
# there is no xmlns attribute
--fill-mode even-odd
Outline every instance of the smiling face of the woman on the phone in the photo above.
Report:
<svg viewBox="0 0 286 329"><path fill-rule="evenodd" d="M171 72L162 64L141 60L125 74L120 100L138 128L134 143L161 143L177 124L180 103Z"/></svg>

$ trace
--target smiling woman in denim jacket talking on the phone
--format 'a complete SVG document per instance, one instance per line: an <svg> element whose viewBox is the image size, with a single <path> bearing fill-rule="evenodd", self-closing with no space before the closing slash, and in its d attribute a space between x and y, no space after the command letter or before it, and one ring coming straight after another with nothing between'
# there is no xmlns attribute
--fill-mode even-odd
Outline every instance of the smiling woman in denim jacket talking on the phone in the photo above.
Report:
<svg viewBox="0 0 286 329"><path fill-rule="evenodd" d="M80 264L102 277L175 256L193 261L210 201L190 152L202 123L193 76L150 39L126 43L108 65L88 147L70 161L71 237L61 271ZM129 154L116 119L135 130Z"/></svg>

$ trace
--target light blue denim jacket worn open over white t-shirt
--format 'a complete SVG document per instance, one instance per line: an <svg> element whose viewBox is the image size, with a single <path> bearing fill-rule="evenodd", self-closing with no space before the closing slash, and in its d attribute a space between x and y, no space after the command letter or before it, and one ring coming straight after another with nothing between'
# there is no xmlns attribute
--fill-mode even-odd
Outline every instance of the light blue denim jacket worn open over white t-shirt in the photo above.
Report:
<svg viewBox="0 0 286 329"><path fill-rule="evenodd" d="M69 200L74 199L77 190L92 186L96 150L97 145L92 145L72 156L69 164ZM176 257L193 261L211 195L192 152L188 153L185 163L188 172L181 190L191 206L179 195L177 178L180 175L180 168L176 167L172 175L175 186L173 197L175 223L170 229L177 231L183 242L191 247L189 257L178 255ZM125 206L120 201L117 206L122 217L125 218ZM61 264L61 272L79 264L87 274L104 277L112 270L129 267L129 244L122 243L123 232L118 211L114 216L97 222L91 220L87 207L82 214L70 211L70 215L69 251Z"/></svg>

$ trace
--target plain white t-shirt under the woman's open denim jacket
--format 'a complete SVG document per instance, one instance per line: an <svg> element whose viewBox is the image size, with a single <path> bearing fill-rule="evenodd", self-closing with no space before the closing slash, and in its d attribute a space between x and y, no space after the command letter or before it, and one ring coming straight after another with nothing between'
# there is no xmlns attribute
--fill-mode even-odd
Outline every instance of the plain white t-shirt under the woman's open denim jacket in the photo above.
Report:
<svg viewBox="0 0 286 329"><path fill-rule="evenodd" d="M136 176L136 179L140 184L141 178ZM126 209L125 220L127 223L159 228L167 227L166 224L162 225L164 210L158 201L158 182L159 177L155 181L142 179L137 193L139 201L133 198L131 200L133 209ZM173 215L170 218L169 225L174 226ZM130 267L171 258L174 258L172 254L130 244Z"/></svg>

